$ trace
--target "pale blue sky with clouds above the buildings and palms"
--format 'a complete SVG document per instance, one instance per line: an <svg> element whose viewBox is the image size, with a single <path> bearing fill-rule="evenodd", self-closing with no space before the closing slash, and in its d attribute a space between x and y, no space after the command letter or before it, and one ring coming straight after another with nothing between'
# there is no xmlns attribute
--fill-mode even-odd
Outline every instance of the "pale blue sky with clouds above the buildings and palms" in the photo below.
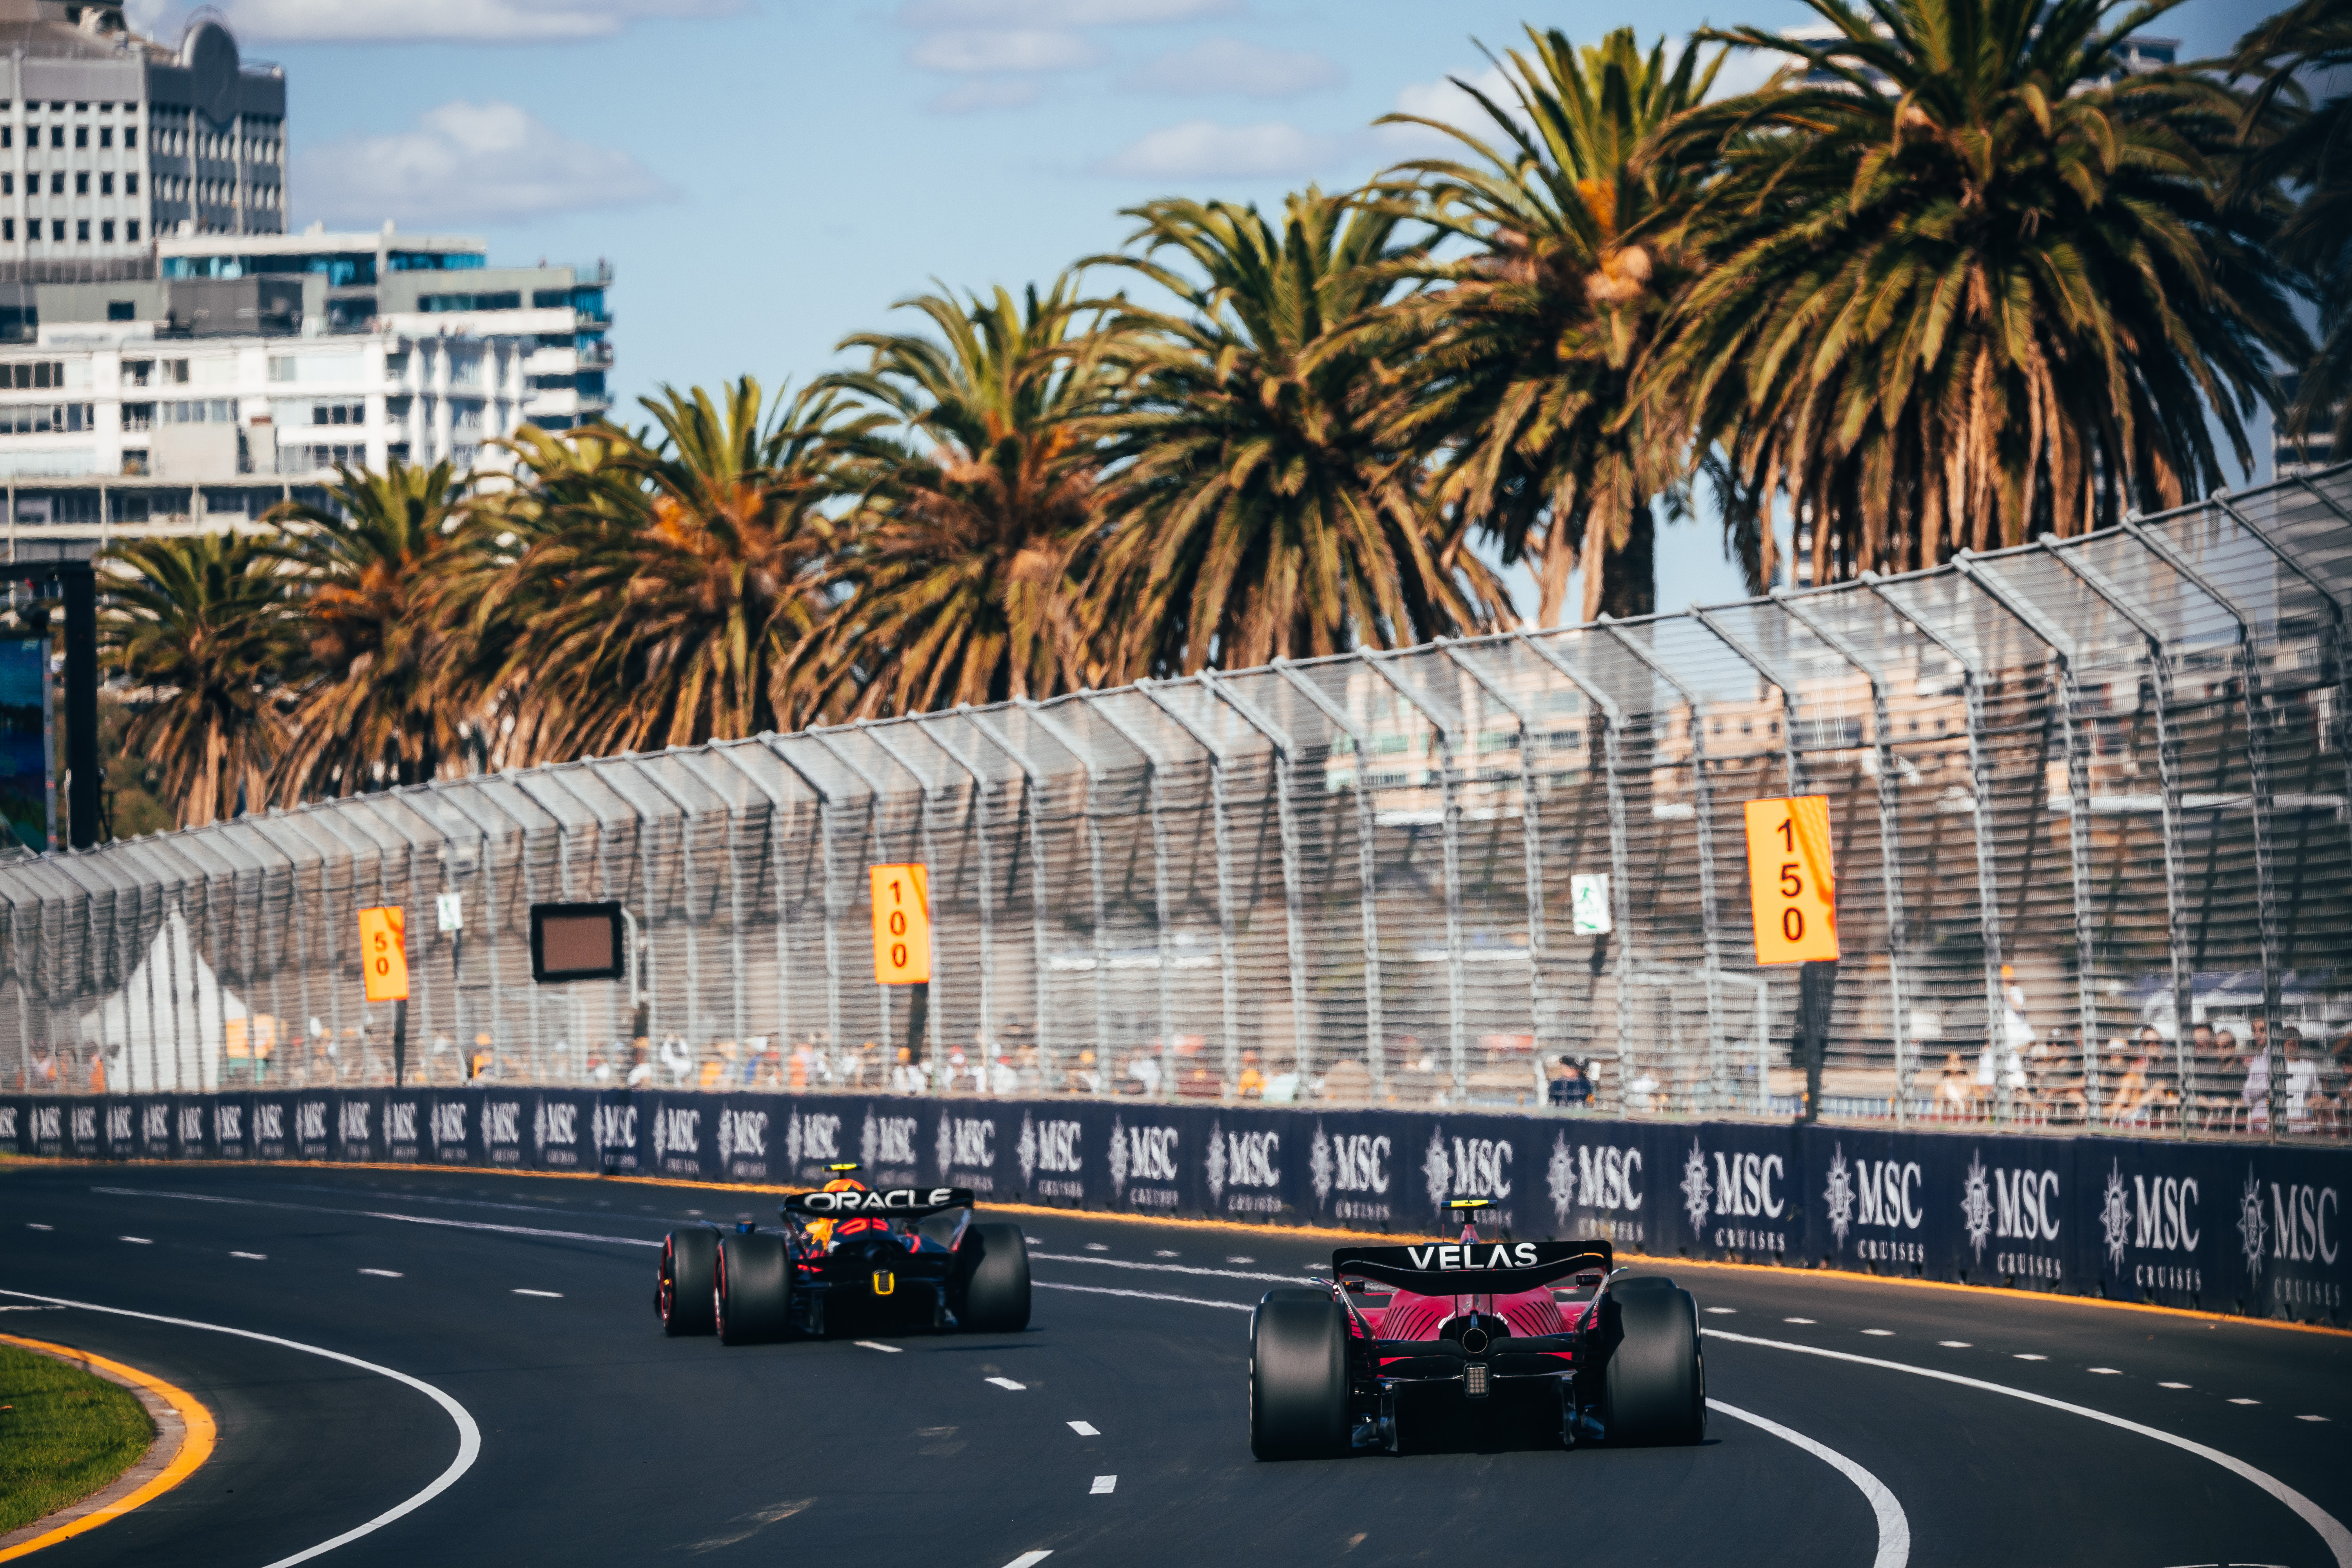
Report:
<svg viewBox="0 0 2352 1568"><path fill-rule="evenodd" d="M1792 0L219 0L287 68L294 223L473 233L616 270L614 390L800 383L941 280L1117 249L1155 195L1279 202L1428 146L1449 75L1524 21L1590 40L1785 28ZM2213 54L2270 5L2150 33ZM132 0L176 40L179 0ZM1757 66L1738 66L1748 80ZM896 317L908 322L908 317ZM908 322L906 329L913 329ZM635 411L633 404L626 404ZM1663 609L1736 597L1712 522L1661 531ZM1531 595L1526 595L1531 609Z"/></svg>

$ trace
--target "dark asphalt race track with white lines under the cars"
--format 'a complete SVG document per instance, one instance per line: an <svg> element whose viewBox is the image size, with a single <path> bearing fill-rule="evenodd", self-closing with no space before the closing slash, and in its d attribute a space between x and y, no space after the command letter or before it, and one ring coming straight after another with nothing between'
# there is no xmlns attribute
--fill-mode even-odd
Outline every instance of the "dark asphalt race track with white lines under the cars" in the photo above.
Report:
<svg viewBox="0 0 2352 1568"><path fill-rule="evenodd" d="M1327 1262L1310 1241L1030 1213L1028 1333L666 1340L661 1232L753 1213L774 1197L9 1166L0 1328L221 1425L186 1486L40 1561L2352 1568L2347 1335L1679 1265L1715 1331L1703 1448L1423 1422L1402 1458L1258 1465L1247 1305Z"/></svg>

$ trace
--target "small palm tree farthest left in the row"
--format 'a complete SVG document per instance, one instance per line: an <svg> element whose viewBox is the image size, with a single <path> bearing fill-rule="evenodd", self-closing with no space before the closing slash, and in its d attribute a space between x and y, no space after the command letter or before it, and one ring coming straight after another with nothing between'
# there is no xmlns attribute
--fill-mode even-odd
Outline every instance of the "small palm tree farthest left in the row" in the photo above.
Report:
<svg viewBox="0 0 2352 1568"><path fill-rule="evenodd" d="M108 668L153 693L125 729L162 769L181 827L268 799L287 743L275 686L285 649L282 562L252 534L141 538L101 557Z"/></svg>

